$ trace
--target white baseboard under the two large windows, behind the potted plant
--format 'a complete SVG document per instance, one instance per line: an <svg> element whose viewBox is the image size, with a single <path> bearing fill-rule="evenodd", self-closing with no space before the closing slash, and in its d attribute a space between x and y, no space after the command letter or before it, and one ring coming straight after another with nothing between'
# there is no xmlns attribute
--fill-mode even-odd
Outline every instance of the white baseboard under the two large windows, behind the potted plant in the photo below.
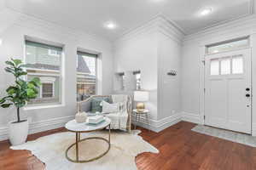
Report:
<svg viewBox="0 0 256 170"><path fill-rule="evenodd" d="M40 133L50 129L64 127L65 124L72 119L74 119L74 116L64 116L40 122L32 122L29 125L29 134ZM9 127L0 127L0 141L9 139L8 131Z"/></svg>

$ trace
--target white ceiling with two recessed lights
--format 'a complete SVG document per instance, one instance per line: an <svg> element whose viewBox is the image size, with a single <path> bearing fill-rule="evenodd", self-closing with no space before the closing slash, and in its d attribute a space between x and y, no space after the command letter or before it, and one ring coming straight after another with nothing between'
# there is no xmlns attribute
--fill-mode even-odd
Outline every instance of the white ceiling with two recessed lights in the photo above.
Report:
<svg viewBox="0 0 256 170"><path fill-rule="evenodd" d="M6 5L61 26L87 31L114 40L156 14L165 14L183 33L196 31L251 14L252 0L8 0ZM204 8L212 13L201 16ZM106 21L117 23L114 30Z"/></svg>

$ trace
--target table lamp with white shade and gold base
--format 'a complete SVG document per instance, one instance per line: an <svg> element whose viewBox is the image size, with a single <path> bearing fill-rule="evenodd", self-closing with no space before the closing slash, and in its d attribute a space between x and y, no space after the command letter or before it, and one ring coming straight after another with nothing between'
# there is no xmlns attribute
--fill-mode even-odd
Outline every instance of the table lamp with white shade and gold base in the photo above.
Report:
<svg viewBox="0 0 256 170"><path fill-rule="evenodd" d="M136 109L138 112L143 112L145 104L143 102L148 101L149 94L147 91L134 91L134 101L137 101Z"/></svg>

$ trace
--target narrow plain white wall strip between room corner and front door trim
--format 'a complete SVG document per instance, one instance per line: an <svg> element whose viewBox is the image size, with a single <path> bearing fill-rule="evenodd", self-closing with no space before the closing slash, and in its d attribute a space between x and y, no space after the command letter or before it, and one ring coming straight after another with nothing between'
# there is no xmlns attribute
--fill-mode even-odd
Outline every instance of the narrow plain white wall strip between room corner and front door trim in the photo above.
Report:
<svg viewBox="0 0 256 170"><path fill-rule="evenodd" d="M200 48L198 42L182 48L181 107L186 116L200 113ZM194 122L194 121L193 121Z"/></svg>

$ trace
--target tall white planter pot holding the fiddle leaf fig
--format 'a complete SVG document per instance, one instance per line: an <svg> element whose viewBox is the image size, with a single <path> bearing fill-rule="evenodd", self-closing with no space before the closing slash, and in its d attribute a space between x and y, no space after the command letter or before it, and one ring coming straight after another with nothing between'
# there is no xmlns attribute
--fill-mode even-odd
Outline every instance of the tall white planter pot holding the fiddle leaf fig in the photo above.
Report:
<svg viewBox="0 0 256 170"><path fill-rule="evenodd" d="M24 144L28 133L28 121L9 122L9 141L12 145Z"/></svg>

